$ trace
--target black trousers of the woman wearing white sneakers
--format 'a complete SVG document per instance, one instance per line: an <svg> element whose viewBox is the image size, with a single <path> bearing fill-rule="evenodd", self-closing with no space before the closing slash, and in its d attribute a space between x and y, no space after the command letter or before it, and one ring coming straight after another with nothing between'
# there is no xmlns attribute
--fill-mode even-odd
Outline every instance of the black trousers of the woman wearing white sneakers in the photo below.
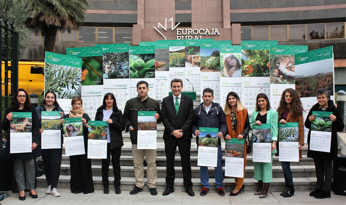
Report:
<svg viewBox="0 0 346 205"><path fill-rule="evenodd" d="M61 157L63 149L41 149L41 156L44 164L44 174L48 186L56 188L60 177Z"/></svg>

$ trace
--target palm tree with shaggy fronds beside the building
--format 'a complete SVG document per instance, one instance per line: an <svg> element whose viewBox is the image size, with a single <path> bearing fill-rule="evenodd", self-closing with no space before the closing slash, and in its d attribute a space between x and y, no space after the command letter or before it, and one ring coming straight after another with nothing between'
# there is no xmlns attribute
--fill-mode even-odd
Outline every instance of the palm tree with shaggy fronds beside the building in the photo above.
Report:
<svg viewBox="0 0 346 205"><path fill-rule="evenodd" d="M26 27L44 37L44 51L53 52L56 32L79 30L89 4L86 0L26 0L31 17Z"/></svg>

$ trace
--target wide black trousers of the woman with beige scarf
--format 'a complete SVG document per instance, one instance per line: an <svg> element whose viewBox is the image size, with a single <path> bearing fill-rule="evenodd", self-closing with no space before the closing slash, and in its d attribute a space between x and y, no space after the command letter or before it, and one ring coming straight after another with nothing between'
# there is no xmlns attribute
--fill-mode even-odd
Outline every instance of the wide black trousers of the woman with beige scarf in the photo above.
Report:
<svg viewBox="0 0 346 205"><path fill-rule="evenodd" d="M85 145L86 146L86 145ZM85 152L86 153L86 152ZM91 159L88 155L70 156L71 192L83 192L88 194L94 192L94 183L92 180Z"/></svg>

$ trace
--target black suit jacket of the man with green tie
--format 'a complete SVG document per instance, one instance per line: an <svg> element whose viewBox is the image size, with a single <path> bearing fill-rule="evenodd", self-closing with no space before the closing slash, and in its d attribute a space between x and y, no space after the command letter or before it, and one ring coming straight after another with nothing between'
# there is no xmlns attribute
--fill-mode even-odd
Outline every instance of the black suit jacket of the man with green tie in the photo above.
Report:
<svg viewBox="0 0 346 205"><path fill-rule="evenodd" d="M176 115L173 96L169 95L162 100L161 120L165 126L163 139L175 138L171 134L174 130L183 130L179 139L192 138L191 125L193 120L193 101L188 95L181 95L178 115Z"/></svg>

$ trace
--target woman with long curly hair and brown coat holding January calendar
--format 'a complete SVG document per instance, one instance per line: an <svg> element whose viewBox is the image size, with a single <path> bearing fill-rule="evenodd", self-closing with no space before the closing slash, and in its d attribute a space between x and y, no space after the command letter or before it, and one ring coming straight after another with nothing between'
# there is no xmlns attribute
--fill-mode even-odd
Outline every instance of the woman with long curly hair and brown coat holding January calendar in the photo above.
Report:
<svg viewBox="0 0 346 205"><path fill-rule="evenodd" d="M300 98L295 90L287 88L282 92L279 108L279 122L286 124L287 122L298 122L298 139L299 139L299 158L302 158L301 149L304 146L304 122L303 122L303 107ZM279 142L276 142L277 150L279 150ZM279 156L279 151L275 153ZM289 161L281 161L283 175L285 177L286 188L280 194L283 197L291 197L294 195L293 176Z"/></svg>

